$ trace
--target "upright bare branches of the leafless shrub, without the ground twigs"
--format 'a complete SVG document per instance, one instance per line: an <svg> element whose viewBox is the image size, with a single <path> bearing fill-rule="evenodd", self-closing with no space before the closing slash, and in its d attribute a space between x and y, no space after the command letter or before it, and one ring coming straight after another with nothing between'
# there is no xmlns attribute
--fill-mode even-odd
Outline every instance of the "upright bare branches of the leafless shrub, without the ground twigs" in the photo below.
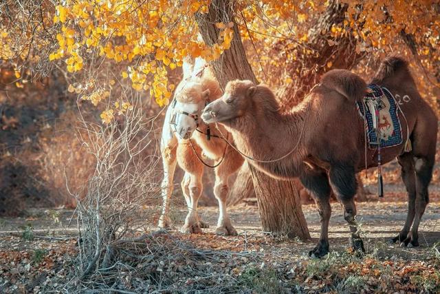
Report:
<svg viewBox="0 0 440 294"><path fill-rule="evenodd" d="M159 186L154 180L158 162L153 129L155 117L145 118L140 96L132 94L132 97L126 100L131 102L133 109L127 109L123 116L108 125L89 122L81 116L76 136L82 143L83 152L94 157L95 165L85 190L72 193L78 201L80 234L78 257L74 261L76 269L72 273L75 283L65 285L69 291L107 284L102 280L102 273L109 268L123 267L115 255L115 245L146 231L155 213L154 208L146 207L158 207L153 205L158 203L159 196ZM72 156L72 162L77 162L72 165L80 166L83 159ZM47 158L59 156L48 154ZM51 162L49 166L57 164ZM54 171L61 173L60 169ZM62 174L69 184L72 177Z"/></svg>

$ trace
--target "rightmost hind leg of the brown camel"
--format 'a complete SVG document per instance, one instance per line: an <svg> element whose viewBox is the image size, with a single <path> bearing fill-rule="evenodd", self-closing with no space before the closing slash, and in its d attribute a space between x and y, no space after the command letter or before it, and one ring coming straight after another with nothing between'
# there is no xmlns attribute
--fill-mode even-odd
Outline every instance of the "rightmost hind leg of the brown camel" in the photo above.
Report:
<svg viewBox="0 0 440 294"><path fill-rule="evenodd" d="M400 246L419 246L419 224L429 202L428 186L432 178L432 167L434 166L434 156L416 156L415 158L415 218L412 228L406 239Z"/></svg>

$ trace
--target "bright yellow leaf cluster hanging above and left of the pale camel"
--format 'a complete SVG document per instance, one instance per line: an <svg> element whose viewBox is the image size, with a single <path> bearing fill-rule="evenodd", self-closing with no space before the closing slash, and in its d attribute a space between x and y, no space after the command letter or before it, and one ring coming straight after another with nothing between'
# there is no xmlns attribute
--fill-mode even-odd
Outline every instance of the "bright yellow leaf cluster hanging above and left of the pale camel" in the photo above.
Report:
<svg viewBox="0 0 440 294"><path fill-rule="evenodd" d="M186 56L211 61L230 48L233 23L218 23L219 42L212 47L197 37L195 14L208 12L208 5L208 0L67 0L56 6L54 22L61 23L61 32L49 59L63 59L68 72L87 67L96 54L125 62L122 77L131 79L133 89L148 90L166 105L173 92L168 70Z"/></svg>

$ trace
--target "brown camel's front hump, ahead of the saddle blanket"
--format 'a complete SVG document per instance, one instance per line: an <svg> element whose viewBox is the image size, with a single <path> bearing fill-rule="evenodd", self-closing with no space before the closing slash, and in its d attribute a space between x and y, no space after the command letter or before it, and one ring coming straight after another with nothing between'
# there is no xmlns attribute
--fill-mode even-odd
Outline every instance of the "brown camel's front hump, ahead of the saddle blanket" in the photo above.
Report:
<svg viewBox="0 0 440 294"><path fill-rule="evenodd" d="M350 101L364 97L366 83L357 74L348 70L330 70L321 78L321 84L335 90Z"/></svg>

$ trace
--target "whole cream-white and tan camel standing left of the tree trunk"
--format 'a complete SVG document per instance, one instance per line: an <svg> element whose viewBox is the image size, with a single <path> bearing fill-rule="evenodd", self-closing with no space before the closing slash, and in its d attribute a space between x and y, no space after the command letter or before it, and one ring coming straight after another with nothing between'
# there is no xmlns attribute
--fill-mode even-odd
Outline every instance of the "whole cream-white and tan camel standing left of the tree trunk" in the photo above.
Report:
<svg viewBox="0 0 440 294"><path fill-rule="evenodd" d="M168 216L170 196L173 192L173 177L177 163L185 171L181 190L188 205L188 215L181 231L201 233L201 227L207 227L207 224L201 222L197 216L197 202L203 190L201 182L203 163L197 155L202 158L203 154L206 158L219 162L224 154L223 161L214 169L214 195L219 201L216 233L236 235L226 209L229 191L228 178L241 167L244 160L224 140L216 138L219 133L213 126L210 127L212 132L208 140L206 136L208 125L197 119L207 102L214 101L221 96L219 83L212 77L203 60L199 59L194 66L188 65L187 62L184 65L186 66L184 67L184 80L177 86L175 101L167 109L162 129L161 151L164 180L162 180L162 216L159 218L159 227L168 227L170 224ZM196 129L199 132L195 132ZM225 129L221 130L226 134ZM192 140L192 146L190 140Z"/></svg>

